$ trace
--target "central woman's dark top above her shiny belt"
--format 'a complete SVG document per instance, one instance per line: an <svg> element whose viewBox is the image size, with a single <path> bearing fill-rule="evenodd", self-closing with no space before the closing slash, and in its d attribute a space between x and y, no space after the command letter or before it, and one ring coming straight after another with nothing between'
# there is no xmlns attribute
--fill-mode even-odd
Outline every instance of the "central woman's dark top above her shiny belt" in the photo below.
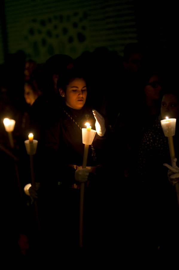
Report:
<svg viewBox="0 0 179 270"><path fill-rule="evenodd" d="M40 149L39 165L45 174L43 175L40 170L39 182L43 183L45 179L48 181L48 178L53 179L55 184L60 181L71 185L74 182L74 169L69 168L68 165L82 165L84 144L80 127L85 128L84 124L87 121L92 129L95 129L92 109L85 107L82 110L74 110L69 107L59 107L58 115L51 119L52 124L47 127L45 146ZM87 166L102 163L104 144L105 139L96 134L93 141L94 151L89 146Z"/></svg>

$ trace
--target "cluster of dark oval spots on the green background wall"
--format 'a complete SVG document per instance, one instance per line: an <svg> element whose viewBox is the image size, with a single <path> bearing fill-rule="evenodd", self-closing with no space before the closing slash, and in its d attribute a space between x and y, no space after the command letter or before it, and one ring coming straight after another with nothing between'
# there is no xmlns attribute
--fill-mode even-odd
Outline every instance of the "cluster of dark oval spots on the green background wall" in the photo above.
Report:
<svg viewBox="0 0 179 270"><path fill-rule="evenodd" d="M88 14L74 12L59 14L28 22L25 42L28 45L27 57L47 59L51 55L62 53L77 57L88 50Z"/></svg>

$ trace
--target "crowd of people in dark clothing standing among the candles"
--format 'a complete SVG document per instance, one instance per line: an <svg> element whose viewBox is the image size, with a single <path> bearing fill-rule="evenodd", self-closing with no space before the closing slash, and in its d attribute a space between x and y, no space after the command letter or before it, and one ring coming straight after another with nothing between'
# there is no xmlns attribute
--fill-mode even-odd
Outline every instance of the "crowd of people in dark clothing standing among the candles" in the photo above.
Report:
<svg viewBox="0 0 179 270"><path fill-rule="evenodd" d="M83 182L84 248L179 249L179 170L175 163L175 183L169 181L163 166L171 164L169 145L160 125L166 116L177 119L173 138L179 157L178 84L168 62L135 43L125 47L123 57L97 48L76 59L53 55L44 64L17 52L0 68L6 252L27 258L79 248ZM13 148L4 118L16 121ZM97 133L82 168L86 122ZM38 140L33 155L36 187L29 185L24 192L31 183L24 143L29 133Z"/></svg>

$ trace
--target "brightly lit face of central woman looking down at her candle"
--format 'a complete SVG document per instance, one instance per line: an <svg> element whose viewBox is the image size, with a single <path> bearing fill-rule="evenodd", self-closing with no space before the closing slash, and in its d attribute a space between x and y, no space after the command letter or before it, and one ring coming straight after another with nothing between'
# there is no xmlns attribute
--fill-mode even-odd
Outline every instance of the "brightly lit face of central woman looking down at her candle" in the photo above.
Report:
<svg viewBox="0 0 179 270"><path fill-rule="evenodd" d="M65 103L68 107L76 110L82 109L87 96L85 80L82 78L72 79L66 87L66 92L60 90L60 95L65 95Z"/></svg>

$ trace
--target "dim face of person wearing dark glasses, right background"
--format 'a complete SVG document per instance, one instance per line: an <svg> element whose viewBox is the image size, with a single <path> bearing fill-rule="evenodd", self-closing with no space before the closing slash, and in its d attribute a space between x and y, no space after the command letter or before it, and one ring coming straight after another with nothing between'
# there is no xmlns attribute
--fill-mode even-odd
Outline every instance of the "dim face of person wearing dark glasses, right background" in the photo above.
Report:
<svg viewBox="0 0 179 270"><path fill-rule="evenodd" d="M159 82L159 77L157 75L153 75L150 79L149 82L146 84L144 87L144 92L146 94L147 98L150 98L152 100L156 100L160 98L160 82Z"/></svg>

